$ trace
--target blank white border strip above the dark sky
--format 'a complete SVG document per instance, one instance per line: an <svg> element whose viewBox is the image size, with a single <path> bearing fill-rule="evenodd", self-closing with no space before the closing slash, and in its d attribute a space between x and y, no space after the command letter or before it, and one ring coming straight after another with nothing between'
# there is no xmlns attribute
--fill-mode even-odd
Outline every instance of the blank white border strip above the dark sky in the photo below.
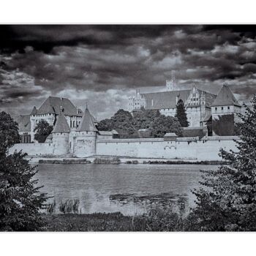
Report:
<svg viewBox="0 0 256 256"><path fill-rule="evenodd" d="M255 23L254 1L8 0L0 23Z"/></svg>

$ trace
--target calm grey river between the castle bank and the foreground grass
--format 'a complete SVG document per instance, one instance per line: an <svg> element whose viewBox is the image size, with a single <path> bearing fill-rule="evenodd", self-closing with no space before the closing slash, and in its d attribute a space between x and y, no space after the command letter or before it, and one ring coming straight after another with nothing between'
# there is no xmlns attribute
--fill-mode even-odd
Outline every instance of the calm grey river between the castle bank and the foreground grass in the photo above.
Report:
<svg viewBox="0 0 256 256"><path fill-rule="evenodd" d="M160 203L195 205L191 189L199 187L200 170L216 165L38 165L42 192L60 202L80 200L81 213L141 214ZM49 202L53 202L53 198ZM183 199L183 200L182 200Z"/></svg>

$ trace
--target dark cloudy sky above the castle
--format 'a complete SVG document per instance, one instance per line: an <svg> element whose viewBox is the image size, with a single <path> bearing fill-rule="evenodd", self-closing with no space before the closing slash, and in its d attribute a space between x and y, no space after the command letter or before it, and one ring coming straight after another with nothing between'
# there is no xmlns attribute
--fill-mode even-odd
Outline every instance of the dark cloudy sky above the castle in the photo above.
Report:
<svg viewBox="0 0 256 256"><path fill-rule="evenodd" d="M67 97L100 120L140 91L177 86L239 100L256 93L256 26L0 26L0 110L30 113L50 95Z"/></svg>

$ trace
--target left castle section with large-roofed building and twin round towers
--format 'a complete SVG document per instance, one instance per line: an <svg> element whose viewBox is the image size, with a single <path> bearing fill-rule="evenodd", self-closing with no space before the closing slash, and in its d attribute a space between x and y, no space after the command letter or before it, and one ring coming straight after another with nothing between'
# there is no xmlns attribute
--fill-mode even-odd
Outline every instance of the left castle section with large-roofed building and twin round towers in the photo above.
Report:
<svg viewBox="0 0 256 256"><path fill-rule="evenodd" d="M51 154L72 154L75 157L86 157L95 154L96 140L115 138L115 130L98 131L97 120L91 116L89 109L83 112L70 102L69 99L48 97L37 110L33 108L30 115L18 116L20 143L37 143L34 140L34 128L40 120L53 125L45 143L53 146Z"/></svg>

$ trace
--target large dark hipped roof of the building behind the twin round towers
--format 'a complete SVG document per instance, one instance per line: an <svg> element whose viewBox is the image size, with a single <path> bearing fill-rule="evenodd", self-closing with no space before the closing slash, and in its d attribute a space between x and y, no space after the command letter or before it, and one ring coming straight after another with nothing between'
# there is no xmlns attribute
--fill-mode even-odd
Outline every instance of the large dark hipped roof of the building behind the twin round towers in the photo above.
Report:
<svg viewBox="0 0 256 256"><path fill-rule="evenodd" d="M75 107L73 103L67 98L48 97L41 107L37 110L37 115L52 113L58 114L64 110L65 116L82 116L83 112Z"/></svg>

